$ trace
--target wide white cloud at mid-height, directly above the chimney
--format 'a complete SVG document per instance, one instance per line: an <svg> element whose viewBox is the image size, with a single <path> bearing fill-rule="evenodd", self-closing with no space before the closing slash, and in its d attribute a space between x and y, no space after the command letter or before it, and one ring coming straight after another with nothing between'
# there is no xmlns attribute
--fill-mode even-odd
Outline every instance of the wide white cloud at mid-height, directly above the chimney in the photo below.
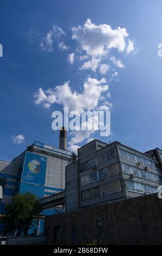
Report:
<svg viewBox="0 0 162 256"><path fill-rule="evenodd" d="M102 94L108 92L108 88L107 81L104 78L97 80L89 77L83 84L82 93L72 92L69 82L65 82L63 86L57 86L45 92L42 88L39 88L34 95L34 102L36 105L42 103L46 108L49 108L53 103L59 103L62 106L68 106L69 111L80 113L82 109L96 109Z"/></svg>

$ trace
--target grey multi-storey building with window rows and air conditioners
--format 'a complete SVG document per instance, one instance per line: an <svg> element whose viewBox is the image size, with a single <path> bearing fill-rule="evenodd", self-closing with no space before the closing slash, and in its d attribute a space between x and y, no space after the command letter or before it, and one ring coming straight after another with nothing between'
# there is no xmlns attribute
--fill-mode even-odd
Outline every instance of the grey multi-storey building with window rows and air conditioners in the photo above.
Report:
<svg viewBox="0 0 162 256"><path fill-rule="evenodd" d="M66 167L65 210L158 192L160 160L151 152L141 153L119 142L94 140L84 145L78 149L78 161Z"/></svg>

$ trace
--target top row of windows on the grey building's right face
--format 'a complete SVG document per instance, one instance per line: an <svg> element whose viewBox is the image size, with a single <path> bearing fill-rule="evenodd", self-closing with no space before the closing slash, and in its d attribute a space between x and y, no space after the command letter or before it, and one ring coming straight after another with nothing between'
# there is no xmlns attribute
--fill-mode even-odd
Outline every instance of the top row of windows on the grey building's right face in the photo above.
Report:
<svg viewBox="0 0 162 256"><path fill-rule="evenodd" d="M120 155L121 157L124 157L125 159L132 160L137 163L144 164L145 166L149 166L150 168L156 169L155 163L152 161L149 161L148 159L145 159L144 157L134 155L132 153L129 153L126 150L120 149Z"/></svg>

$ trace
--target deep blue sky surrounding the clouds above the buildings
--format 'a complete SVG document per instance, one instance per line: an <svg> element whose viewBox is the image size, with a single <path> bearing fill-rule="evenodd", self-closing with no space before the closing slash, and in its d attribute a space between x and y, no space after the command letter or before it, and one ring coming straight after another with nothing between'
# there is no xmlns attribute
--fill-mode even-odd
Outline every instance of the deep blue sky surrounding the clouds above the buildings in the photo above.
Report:
<svg viewBox="0 0 162 256"><path fill-rule="evenodd" d="M53 88L52 95L58 94L54 88L61 86L63 92L63 85L70 81L68 87L71 93L76 90L78 95L83 96L83 84L88 82L88 78L101 81L104 77L107 80L105 84L109 89L100 95L104 96L104 100L99 101L101 97L98 97L96 108L105 102L111 103L107 103L107 107L111 107L113 133L109 137L99 137L96 132L90 134L90 138L105 142L120 141L141 151L161 148L162 58L158 57L158 45L162 42L161 10L160 0L1 1L0 159L12 160L34 140L57 147L59 133L52 130L51 115L54 110L63 108L65 99L59 98L54 103L50 101L51 106L45 107L46 103L49 104L47 89ZM117 36L117 28L125 28L129 35L124 38L124 50L119 49L123 46L122 41L116 48L109 47L103 55L96 55L93 49L85 50L79 33L82 34L88 19L98 30L103 24L110 25ZM81 32L77 30L77 39L72 39L72 27L78 28L78 25ZM115 29L117 32L114 32ZM50 38L49 32L52 33ZM92 41L94 47L96 42L99 44L101 40L102 44L103 40L97 33ZM129 54L128 39L134 45ZM86 42L89 44L90 41ZM65 46L64 49L62 46ZM73 64L67 61L71 53L74 53ZM79 60L83 56L86 59ZM121 60L124 67L119 62L113 62L112 57L116 61ZM92 65L92 59L94 62L97 59L96 66ZM102 64L108 66L105 74L100 70ZM89 69L85 69L87 66ZM92 70L91 66L96 70ZM112 78L113 74L118 75ZM36 104L38 97L34 96L38 95L39 88L47 99ZM14 141L17 135L24 137ZM72 135L68 138L72 145ZM83 135L78 143L77 139L73 144L80 146L89 138Z"/></svg>

